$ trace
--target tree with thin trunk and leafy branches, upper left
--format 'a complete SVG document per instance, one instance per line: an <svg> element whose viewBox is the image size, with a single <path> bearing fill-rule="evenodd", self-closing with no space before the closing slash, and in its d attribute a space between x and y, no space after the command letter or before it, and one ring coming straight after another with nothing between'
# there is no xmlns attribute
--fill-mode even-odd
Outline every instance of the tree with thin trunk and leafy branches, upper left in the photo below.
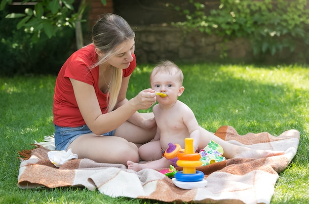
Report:
<svg viewBox="0 0 309 204"><path fill-rule="evenodd" d="M69 26L76 30L77 49L83 46L81 22L82 14L87 6L86 0L80 0L78 9L75 11L73 3L75 0L23 0L21 3L34 2L29 5L25 13L10 13L5 18L22 18L17 24L17 29L24 28L27 33L33 34L33 41L38 41L43 33L48 38L57 36L60 27ZM101 0L106 5L106 0ZM0 10L4 10L12 0L2 0Z"/></svg>

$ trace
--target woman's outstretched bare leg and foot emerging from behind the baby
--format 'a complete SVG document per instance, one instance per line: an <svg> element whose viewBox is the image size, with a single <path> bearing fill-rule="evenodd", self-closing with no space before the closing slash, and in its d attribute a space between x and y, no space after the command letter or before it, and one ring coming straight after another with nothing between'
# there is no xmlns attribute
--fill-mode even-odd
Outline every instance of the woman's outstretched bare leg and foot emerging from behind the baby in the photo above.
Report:
<svg viewBox="0 0 309 204"><path fill-rule="evenodd" d="M238 146L231 144L220 137L217 137L216 135L210 133L206 129L200 127L201 131L201 139L198 146L198 149L203 149L207 146L210 140L215 141L219 145L222 146L224 154L227 159L231 158L265 158L265 157L271 157L271 156L277 156L277 155L283 155L283 151L271 151L271 150L255 150L248 147Z"/></svg>

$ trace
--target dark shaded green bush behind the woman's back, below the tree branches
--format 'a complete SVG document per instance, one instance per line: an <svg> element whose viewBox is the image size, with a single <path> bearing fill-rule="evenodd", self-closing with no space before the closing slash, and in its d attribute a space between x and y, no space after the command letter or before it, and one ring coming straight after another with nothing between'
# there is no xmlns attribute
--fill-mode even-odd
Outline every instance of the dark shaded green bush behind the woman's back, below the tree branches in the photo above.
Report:
<svg viewBox="0 0 309 204"><path fill-rule="evenodd" d="M36 42L33 35L16 30L18 19L6 19L0 13L0 72L2 76L26 74L56 74L72 53L74 30L61 28L55 37L41 36Z"/></svg>

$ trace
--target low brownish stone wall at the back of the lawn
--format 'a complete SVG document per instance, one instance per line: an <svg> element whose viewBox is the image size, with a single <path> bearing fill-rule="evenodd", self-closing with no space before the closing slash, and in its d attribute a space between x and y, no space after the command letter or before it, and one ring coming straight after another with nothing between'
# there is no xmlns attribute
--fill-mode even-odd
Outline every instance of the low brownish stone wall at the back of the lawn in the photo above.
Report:
<svg viewBox="0 0 309 204"><path fill-rule="evenodd" d="M295 41L295 50L283 48L274 55L254 55L248 39L225 41L223 37L209 36L198 30L184 34L172 26L134 26L135 55L138 63L174 62L229 62L229 63L308 63L308 45ZM220 55L226 53L226 58Z"/></svg>

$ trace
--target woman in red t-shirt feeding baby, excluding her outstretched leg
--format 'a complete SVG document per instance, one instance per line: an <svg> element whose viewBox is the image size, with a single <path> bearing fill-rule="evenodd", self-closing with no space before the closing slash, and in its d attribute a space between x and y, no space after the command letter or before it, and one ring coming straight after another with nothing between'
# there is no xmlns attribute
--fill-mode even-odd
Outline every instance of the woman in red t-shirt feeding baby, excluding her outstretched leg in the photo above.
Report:
<svg viewBox="0 0 309 204"><path fill-rule="evenodd" d="M78 158L101 163L139 161L136 144L153 139L155 121L137 110L150 108L155 92L126 99L136 67L134 37L123 18L104 14L93 27L93 43L62 66L53 104L56 150L71 148Z"/></svg>

